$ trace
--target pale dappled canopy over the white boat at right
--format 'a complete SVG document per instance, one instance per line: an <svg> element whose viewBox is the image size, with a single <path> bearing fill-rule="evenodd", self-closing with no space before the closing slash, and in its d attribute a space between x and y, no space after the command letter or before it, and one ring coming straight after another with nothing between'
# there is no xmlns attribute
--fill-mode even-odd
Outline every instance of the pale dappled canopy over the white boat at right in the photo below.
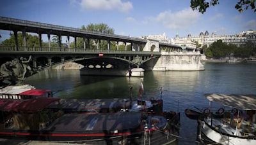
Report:
<svg viewBox="0 0 256 145"><path fill-rule="evenodd" d="M205 97L212 102L220 102L229 107L243 110L256 110L256 95L225 95L205 94Z"/></svg>

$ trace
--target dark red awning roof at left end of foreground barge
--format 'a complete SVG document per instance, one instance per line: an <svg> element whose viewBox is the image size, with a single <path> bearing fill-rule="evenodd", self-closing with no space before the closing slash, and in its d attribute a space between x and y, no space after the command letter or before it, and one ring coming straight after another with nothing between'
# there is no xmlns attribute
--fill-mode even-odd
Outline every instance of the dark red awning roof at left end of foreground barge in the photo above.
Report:
<svg viewBox="0 0 256 145"><path fill-rule="evenodd" d="M52 102L60 100L58 98L37 98L28 100L11 100L11 99L0 99L0 110L1 111L14 111L14 112L27 112L35 113L41 111Z"/></svg>

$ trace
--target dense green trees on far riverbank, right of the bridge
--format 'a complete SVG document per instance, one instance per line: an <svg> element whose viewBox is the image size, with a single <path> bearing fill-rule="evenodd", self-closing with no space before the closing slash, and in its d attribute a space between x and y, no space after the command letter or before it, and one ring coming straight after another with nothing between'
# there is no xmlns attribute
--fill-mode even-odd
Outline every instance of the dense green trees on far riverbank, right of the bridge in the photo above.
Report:
<svg viewBox="0 0 256 145"><path fill-rule="evenodd" d="M202 50L205 51L205 56L220 59L223 57L250 57L256 54L256 47L252 41L246 42L245 45L237 47L236 45L223 43L222 40L218 40L212 43L209 48L203 46Z"/></svg>

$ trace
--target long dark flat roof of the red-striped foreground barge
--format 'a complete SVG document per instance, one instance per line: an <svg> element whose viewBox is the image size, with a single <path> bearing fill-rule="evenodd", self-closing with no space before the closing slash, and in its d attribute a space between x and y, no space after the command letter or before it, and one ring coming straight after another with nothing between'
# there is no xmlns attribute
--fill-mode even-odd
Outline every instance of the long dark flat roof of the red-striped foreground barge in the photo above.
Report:
<svg viewBox="0 0 256 145"><path fill-rule="evenodd" d="M68 113L55 120L46 130L52 132L106 132L131 130L140 126L141 112Z"/></svg>

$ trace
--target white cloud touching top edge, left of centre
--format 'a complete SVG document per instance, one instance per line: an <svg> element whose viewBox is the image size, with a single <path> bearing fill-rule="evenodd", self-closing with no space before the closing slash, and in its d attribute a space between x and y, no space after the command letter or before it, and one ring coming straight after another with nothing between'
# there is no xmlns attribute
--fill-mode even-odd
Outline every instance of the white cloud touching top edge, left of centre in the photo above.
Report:
<svg viewBox="0 0 256 145"><path fill-rule="evenodd" d="M130 1L122 0L82 0L80 6L84 10L118 10L128 12L132 9Z"/></svg>

